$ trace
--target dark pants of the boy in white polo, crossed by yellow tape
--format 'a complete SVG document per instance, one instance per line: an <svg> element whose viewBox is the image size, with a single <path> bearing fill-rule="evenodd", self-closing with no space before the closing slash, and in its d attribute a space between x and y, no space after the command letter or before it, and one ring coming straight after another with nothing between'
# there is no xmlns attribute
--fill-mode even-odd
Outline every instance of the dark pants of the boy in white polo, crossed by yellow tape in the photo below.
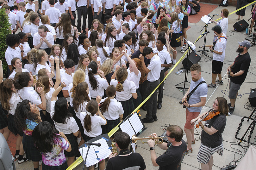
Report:
<svg viewBox="0 0 256 170"><path fill-rule="evenodd" d="M153 90L159 85L159 79L155 82L147 82L147 96L153 92ZM146 102L147 106L147 120L152 119L156 116L157 111L157 93L156 91L152 94L152 96Z"/></svg>

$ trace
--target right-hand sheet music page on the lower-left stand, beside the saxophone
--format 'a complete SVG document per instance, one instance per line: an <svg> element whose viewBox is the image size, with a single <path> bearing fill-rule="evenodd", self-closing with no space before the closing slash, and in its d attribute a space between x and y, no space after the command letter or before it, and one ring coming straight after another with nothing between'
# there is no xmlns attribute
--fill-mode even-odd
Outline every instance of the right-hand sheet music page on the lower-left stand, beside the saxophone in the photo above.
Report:
<svg viewBox="0 0 256 170"><path fill-rule="evenodd" d="M93 143L100 143L101 144L100 147L93 146L97 156L100 158L99 161L108 158L109 154L112 153L111 150L109 149L109 145L107 144L107 141L105 139L101 138L99 140L96 140Z"/></svg>

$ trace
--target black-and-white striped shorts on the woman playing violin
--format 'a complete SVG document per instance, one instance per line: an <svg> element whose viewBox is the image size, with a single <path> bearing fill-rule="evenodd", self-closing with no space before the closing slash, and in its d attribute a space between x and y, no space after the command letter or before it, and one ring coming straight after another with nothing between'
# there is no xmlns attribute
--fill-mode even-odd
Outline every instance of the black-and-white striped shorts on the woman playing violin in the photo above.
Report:
<svg viewBox="0 0 256 170"><path fill-rule="evenodd" d="M207 164L210 161L211 156L217 152L219 155L223 155L223 144L217 146L215 148L211 148L209 146L205 146L201 143L198 154L197 161L200 163Z"/></svg>

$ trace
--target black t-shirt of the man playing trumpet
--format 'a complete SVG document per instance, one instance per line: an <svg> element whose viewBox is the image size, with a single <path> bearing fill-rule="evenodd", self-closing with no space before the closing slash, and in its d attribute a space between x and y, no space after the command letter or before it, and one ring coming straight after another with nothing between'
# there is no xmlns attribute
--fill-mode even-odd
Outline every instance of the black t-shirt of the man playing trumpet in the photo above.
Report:
<svg viewBox="0 0 256 170"><path fill-rule="evenodd" d="M186 142L183 139L181 141L182 144L179 146L173 146L171 142L168 143L165 153L156 158L159 170L180 170L181 162L187 151Z"/></svg>

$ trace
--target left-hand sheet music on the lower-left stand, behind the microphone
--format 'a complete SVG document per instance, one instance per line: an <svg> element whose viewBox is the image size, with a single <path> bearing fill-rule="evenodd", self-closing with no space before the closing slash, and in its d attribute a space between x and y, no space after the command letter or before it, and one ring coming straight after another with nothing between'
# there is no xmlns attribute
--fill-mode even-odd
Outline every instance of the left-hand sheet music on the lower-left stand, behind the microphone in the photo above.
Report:
<svg viewBox="0 0 256 170"><path fill-rule="evenodd" d="M85 159L87 149L88 149L88 146L79 149L79 152L82 155L83 159ZM92 165L97 164L98 162L99 162L99 160L97 159L97 155L95 153L93 145L91 145L91 147L89 149L89 152L88 152L88 155L87 155L87 158L86 158L86 164L85 165L86 165L86 167L90 167Z"/></svg>

